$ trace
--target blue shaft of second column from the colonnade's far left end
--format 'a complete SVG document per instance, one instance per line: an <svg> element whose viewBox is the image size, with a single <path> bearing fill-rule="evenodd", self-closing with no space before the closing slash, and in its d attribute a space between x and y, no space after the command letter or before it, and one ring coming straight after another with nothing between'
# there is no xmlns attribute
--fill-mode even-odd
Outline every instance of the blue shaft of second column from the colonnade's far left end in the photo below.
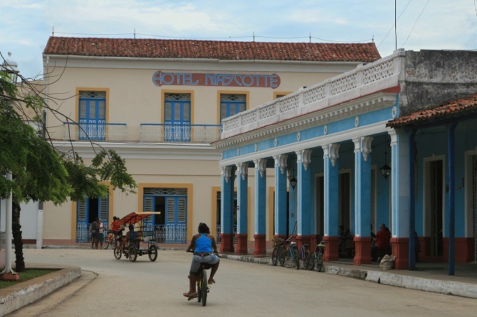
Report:
<svg viewBox="0 0 477 317"><path fill-rule="evenodd" d="M237 164L237 233L248 231L248 163Z"/></svg>

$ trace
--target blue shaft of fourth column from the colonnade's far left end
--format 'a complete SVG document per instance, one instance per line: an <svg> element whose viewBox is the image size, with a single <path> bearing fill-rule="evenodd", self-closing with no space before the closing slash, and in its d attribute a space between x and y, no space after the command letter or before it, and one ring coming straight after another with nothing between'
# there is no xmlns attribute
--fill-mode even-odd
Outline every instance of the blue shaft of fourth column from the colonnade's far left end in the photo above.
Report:
<svg viewBox="0 0 477 317"><path fill-rule="evenodd" d="M286 235L286 159L287 155L274 156L275 160L275 235Z"/></svg>

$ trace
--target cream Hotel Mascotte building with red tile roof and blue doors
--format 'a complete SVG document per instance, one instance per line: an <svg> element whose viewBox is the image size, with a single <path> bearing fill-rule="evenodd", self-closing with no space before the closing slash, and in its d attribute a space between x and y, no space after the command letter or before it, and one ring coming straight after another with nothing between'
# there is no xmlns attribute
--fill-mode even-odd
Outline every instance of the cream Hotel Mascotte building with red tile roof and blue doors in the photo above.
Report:
<svg viewBox="0 0 477 317"><path fill-rule="evenodd" d="M114 149L138 188L85 203L46 202L38 210L43 244L88 242L95 217L109 223L138 210L162 212L143 224L160 243L187 243L199 222L220 232L220 153L210 144L221 119L379 58L374 43L49 38L44 92L68 116L46 113L53 145L73 146L86 162L95 155L90 141Z"/></svg>

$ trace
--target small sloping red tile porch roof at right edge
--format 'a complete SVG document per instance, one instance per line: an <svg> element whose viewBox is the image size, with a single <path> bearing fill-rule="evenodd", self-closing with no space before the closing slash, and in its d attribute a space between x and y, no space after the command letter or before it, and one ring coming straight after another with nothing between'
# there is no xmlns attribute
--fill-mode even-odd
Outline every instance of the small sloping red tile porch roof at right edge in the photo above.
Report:
<svg viewBox="0 0 477 317"><path fill-rule="evenodd" d="M471 95L433 109L421 110L409 114L409 116L393 119L389 121L386 126L394 128L412 124L425 124L470 113L477 114L477 95Z"/></svg>

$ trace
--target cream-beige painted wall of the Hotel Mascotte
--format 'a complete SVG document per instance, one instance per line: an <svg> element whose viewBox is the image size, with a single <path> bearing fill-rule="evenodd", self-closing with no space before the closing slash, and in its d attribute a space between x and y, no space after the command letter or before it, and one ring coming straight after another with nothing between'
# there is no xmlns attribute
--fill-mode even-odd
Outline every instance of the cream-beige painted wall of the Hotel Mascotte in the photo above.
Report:
<svg viewBox="0 0 477 317"><path fill-rule="evenodd" d="M55 63L54 58L50 58L49 65ZM135 143L135 147L129 151L122 148L116 149L118 154L126 158L127 171L132 174L135 181L140 185L137 193L125 195L115 191L110 195L110 220L113 215L122 217L132 211L137 211L142 206L142 188L150 186L174 187L182 186L188 188L188 238L196 232L199 222L210 224L211 230L215 232L216 220L216 195L217 188L220 188L221 177L219 170L219 152L209 148L209 156L205 158L198 153L204 154L204 149L193 149L192 146L178 146L177 149L167 148L167 153L172 153L168 157L166 147L162 144L154 145L157 149L154 153L147 154L145 145L139 144L140 124L142 123L163 123L163 92L193 92L192 99L192 124L219 124L219 92L237 92L248 94L248 108L256 107L260 104L273 100L275 93L288 93L298 90L303 86L315 85L342 71L354 68L354 65L345 65L341 71L323 71L319 65L314 65L316 72L310 67L303 65L283 66L276 64L279 71L273 71L274 65L233 65L233 70L229 70L226 63L224 68L219 70L219 66L197 68L181 67L174 63L162 63L158 68L130 68L127 61L115 63L112 67L108 62L108 68L98 67L98 63L87 65L88 62L68 60L67 68L57 67L55 70L51 66L46 69L46 73L53 72L48 79L48 94L59 97L63 100L51 100L50 107L58 110L73 120L78 120L78 98L74 97L78 90L107 90L107 122L127 124L127 140ZM84 65L83 65L83 64ZM83 65L83 66L82 66ZM192 65L189 64L189 65ZM206 65L206 64L204 64ZM75 67L73 67L75 66ZM271 88L250 87L201 87L201 86L162 86L157 87L152 82L152 75L157 70L177 71L177 72L226 72L243 74L266 74L276 73L281 77L281 85L275 90ZM331 69L331 68L330 68ZM263 71L257 71L263 70ZM53 82L54 75L61 75L61 78ZM56 101L56 104L53 102ZM54 132L54 138L63 138L63 127L61 120L56 119L48 113L48 126ZM56 126L58 128L56 128ZM114 148L114 146L112 146ZM180 149L179 149L180 148ZM143 150L144 151L143 151ZM163 151L164 150L164 151ZM149 151L149 150L148 150ZM88 157L88 155L83 155ZM90 157L90 156L89 156ZM211 159L216 157L216 159ZM248 238L253 240L255 232L254 213L254 169L249 168L249 203L248 203ZM267 170L267 197L270 197L270 188L274 186L273 168ZM273 200L267 200L267 235L273 235L269 224L273 223L271 212L273 210ZM44 213L44 238L53 240L75 240L76 210L75 203L65 203L61 206L54 206L46 203ZM271 239L271 237L268 237Z"/></svg>

